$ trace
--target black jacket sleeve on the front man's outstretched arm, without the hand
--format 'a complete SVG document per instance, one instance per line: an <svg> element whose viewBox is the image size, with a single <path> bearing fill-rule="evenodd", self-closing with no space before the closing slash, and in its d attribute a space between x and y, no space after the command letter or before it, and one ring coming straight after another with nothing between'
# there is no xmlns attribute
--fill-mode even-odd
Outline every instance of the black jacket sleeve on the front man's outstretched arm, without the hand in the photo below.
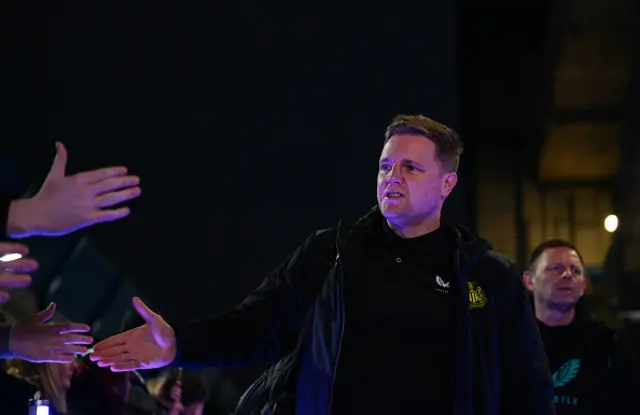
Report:
<svg viewBox="0 0 640 415"><path fill-rule="evenodd" d="M175 364L273 361L295 347L304 317L335 259L332 232L310 236L236 309L175 326Z"/></svg>

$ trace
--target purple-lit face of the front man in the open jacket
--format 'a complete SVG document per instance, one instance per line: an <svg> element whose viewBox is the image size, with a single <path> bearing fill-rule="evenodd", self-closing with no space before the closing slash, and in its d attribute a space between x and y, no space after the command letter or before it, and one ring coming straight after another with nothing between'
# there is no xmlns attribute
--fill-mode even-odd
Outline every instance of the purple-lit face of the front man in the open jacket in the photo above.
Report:
<svg viewBox="0 0 640 415"><path fill-rule="evenodd" d="M436 154L434 142L421 135L387 141L378 166L378 206L389 223L411 226L440 217L457 175L443 172Z"/></svg>

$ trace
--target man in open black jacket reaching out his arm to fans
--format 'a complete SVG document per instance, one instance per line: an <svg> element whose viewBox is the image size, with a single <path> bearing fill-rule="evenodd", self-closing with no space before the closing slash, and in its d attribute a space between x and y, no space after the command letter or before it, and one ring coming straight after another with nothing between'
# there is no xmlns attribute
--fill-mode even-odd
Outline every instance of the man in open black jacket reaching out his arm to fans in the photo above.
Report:
<svg viewBox="0 0 640 415"><path fill-rule="evenodd" d="M312 234L235 310L146 323L98 343L112 370L276 362L237 414L553 414L544 349L520 275L465 229L441 226L462 142L398 116L378 205Z"/></svg>

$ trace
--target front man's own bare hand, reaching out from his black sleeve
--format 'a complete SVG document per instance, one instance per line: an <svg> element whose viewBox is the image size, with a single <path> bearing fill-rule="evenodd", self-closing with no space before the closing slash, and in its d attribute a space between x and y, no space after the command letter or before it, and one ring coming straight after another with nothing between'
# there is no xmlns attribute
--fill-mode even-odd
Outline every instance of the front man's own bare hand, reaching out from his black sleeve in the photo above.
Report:
<svg viewBox="0 0 640 415"><path fill-rule="evenodd" d="M156 369L175 359L176 337L171 326L139 298L133 299L133 306L145 324L96 344L89 358L98 366L128 372Z"/></svg>

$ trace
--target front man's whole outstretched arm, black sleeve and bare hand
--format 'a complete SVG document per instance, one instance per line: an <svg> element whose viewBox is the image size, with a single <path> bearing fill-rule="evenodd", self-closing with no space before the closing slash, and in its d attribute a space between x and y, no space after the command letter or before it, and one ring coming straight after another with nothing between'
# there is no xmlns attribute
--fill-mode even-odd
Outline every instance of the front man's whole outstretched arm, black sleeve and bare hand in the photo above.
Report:
<svg viewBox="0 0 640 415"><path fill-rule="evenodd" d="M335 232L310 236L236 309L172 327L139 300L145 324L98 343L91 355L115 371L242 366L291 351L304 317L335 260Z"/></svg>

